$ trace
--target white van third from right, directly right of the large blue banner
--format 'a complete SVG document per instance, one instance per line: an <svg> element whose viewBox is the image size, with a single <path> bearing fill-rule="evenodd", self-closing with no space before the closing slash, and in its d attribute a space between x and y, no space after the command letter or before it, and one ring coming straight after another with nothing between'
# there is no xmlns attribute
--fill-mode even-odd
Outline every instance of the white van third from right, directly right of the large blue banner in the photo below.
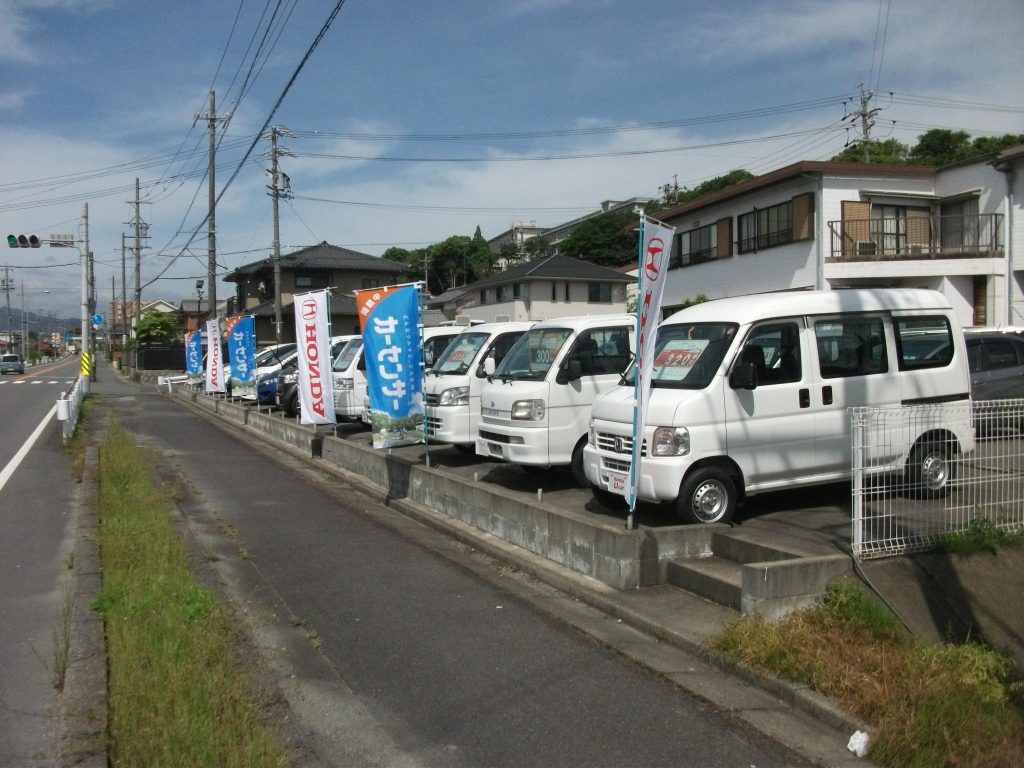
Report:
<svg viewBox="0 0 1024 768"><path fill-rule="evenodd" d="M423 383L427 435L473 450L480 420L483 360L497 366L532 323L484 323L463 329L427 371Z"/></svg>

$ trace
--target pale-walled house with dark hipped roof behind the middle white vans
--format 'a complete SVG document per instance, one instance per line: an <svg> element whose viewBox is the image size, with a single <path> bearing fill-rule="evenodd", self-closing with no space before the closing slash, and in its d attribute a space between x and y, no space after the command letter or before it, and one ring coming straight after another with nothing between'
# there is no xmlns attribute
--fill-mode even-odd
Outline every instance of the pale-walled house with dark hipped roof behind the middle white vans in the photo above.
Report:
<svg viewBox="0 0 1024 768"><path fill-rule="evenodd" d="M626 311L626 287L636 281L621 271L568 256L544 256L442 294L446 316L474 321L541 321Z"/></svg>

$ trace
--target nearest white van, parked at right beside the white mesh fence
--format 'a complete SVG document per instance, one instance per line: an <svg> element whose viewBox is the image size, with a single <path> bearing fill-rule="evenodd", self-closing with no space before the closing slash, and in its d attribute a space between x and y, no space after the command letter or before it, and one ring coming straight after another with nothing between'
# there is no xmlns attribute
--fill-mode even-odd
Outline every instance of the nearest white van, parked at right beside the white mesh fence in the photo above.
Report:
<svg viewBox="0 0 1024 768"><path fill-rule="evenodd" d="M601 501L626 493L633 390L631 371L594 402L584 466ZM913 403L949 407L888 449L886 471L941 496L974 430L964 334L936 291L794 291L688 307L657 329L637 498L671 502L687 522L727 522L743 496L849 479L847 409Z"/></svg>

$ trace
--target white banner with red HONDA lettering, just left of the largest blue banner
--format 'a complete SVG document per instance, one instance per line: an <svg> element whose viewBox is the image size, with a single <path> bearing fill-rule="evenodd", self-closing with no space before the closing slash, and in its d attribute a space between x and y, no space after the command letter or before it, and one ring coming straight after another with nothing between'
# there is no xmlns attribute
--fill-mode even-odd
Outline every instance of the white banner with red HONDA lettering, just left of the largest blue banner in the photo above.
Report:
<svg viewBox="0 0 1024 768"><path fill-rule="evenodd" d="M327 289L295 297L295 339L299 349L299 421L335 424L331 381L331 301Z"/></svg>

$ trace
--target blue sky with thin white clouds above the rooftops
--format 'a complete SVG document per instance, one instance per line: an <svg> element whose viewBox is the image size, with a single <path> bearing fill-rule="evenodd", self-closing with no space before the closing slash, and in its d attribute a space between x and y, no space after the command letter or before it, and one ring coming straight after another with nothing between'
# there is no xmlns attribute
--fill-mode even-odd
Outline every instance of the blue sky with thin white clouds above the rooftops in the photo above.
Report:
<svg viewBox="0 0 1024 768"><path fill-rule="evenodd" d="M142 299L178 304L207 279L211 91L222 278L272 253L269 126L282 253L380 255L828 160L860 89L872 138L1024 133L1021 40L1020 0L0 0L0 229L81 249L87 207L105 313L137 178ZM8 248L0 301L81 316L81 273Z"/></svg>

